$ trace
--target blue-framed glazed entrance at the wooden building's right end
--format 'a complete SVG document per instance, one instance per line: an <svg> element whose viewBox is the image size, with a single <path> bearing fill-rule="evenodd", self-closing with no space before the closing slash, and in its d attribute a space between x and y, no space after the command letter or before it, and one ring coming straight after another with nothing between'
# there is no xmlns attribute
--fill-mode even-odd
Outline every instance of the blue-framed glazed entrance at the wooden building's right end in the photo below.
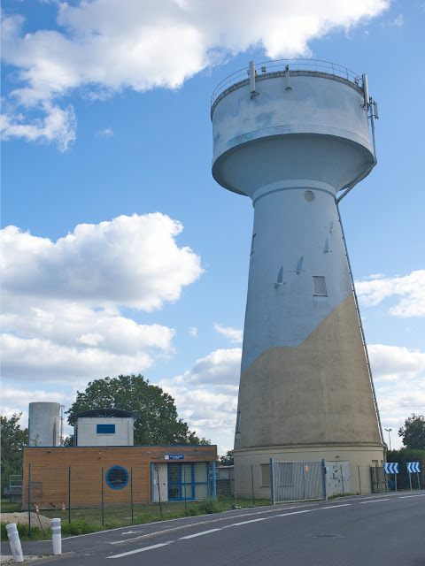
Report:
<svg viewBox="0 0 425 566"><path fill-rule="evenodd" d="M210 497L206 462L168 463L168 501L194 501Z"/></svg>

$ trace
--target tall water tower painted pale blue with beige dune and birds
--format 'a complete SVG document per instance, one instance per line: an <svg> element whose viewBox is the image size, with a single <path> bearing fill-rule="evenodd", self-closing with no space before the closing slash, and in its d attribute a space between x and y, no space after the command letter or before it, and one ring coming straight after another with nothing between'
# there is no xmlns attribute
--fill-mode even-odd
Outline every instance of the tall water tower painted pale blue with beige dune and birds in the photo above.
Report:
<svg viewBox="0 0 425 566"><path fill-rule="evenodd" d="M213 177L254 207L236 493L250 493L251 465L270 457L380 466L383 436L338 210L376 163L367 77L323 61L251 62L212 102Z"/></svg>

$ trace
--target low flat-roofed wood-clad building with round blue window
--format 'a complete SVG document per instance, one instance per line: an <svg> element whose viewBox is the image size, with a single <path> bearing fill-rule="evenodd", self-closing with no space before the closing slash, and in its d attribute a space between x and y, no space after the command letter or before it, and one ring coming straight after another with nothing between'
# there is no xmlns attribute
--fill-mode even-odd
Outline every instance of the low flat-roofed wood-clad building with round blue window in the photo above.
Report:
<svg viewBox="0 0 425 566"><path fill-rule="evenodd" d="M215 446L28 447L22 509L215 499Z"/></svg>

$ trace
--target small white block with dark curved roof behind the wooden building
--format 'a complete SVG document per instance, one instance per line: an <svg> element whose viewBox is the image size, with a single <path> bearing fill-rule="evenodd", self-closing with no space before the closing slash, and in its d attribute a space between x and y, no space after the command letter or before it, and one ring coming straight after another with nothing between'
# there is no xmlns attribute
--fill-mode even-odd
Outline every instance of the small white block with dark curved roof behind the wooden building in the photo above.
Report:
<svg viewBox="0 0 425 566"><path fill-rule="evenodd" d="M74 446L134 446L138 415L122 409L90 409L69 419Z"/></svg>

